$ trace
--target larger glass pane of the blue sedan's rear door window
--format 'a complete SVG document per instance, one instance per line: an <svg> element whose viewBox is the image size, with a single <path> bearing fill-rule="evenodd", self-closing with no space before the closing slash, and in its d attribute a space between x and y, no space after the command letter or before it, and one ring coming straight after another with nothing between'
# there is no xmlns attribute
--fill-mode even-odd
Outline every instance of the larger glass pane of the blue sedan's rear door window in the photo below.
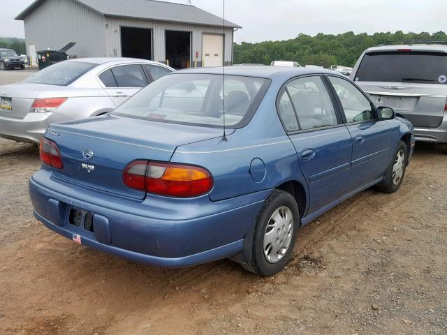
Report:
<svg viewBox="0 0 447 335"><path fill-rule="evenodd" d="M321 77L302 77L286 85L301 130L338 124L334 105Z"/></svg>

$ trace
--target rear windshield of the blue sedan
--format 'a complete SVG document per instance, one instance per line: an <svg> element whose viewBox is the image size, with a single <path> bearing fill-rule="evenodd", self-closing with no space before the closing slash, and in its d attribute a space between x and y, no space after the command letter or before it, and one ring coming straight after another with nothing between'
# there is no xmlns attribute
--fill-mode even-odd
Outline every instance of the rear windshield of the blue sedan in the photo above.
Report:
<svg viewBox="0 0 447 335"><path fill-rule="evenodd" d="M225 126L240 128L251 118L270 80L235 75L224 77L225 80L222 75L166 75L142 89L113 114L212 127L222 127L225 119Z"/></svg>

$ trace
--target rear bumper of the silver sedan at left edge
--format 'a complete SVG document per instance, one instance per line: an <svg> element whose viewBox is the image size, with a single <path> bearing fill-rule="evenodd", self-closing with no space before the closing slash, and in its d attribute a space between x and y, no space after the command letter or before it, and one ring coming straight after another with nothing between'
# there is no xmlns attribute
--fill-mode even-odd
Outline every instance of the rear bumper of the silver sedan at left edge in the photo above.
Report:
<svg viewBox="0 0 447 335"><path fill-rule="evenodd" d="M57 113L28 113L23 119L0 116L0 137L17 142L40 142L52 123L68 121Z"/></svg>

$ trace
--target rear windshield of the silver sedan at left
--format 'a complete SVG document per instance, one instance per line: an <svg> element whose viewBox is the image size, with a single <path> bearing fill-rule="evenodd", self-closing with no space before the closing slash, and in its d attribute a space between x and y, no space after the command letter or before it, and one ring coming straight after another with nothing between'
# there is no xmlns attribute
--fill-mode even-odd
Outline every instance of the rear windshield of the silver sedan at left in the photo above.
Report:
<svg viewBox="0 0 447 335"><path fill-rule="evenodd" d="M61 61L60 63L48 66L38 71L24 82L34 82L35 84L47 84L57 86L67 86L79 77L94 68L97 64L84 63L81 61Z"/></svg>

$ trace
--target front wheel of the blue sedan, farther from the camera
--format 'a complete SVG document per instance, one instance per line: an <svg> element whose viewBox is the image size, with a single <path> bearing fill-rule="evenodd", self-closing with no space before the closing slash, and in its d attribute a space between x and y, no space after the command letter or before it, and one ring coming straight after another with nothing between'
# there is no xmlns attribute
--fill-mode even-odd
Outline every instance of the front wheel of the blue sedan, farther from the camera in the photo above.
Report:
<svg viewBox="0 0 447 335"><path fill-rule="evenodd" d="M408 164L408 148L405 142L399 141L393 155L393 160L386 169L383 180L374 186L377 191L394 193L400 188L404 180L406 165Z"/></svg>

